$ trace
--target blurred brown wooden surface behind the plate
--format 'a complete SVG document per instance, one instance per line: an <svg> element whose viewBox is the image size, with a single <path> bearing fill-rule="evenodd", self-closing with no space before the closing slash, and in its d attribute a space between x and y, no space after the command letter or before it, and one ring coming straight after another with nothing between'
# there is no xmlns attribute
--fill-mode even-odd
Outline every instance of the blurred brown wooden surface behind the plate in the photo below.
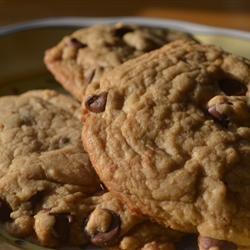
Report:
<svg viewBox="0 0 250 250"><path fill-rule="evenodd" d="M250 0L0 0L0 25L55 16L144 16L250 31Z"/></svg>

